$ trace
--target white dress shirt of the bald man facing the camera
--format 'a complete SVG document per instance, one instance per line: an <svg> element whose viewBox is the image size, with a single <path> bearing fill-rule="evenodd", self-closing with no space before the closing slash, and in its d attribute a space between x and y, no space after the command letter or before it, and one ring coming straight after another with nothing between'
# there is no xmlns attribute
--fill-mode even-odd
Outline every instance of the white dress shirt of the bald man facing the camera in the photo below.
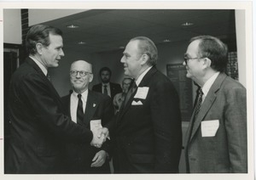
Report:
<svg viewBox="0 0 256 180"><path fill-rule="evenodd" d="M88 96L88 89L84 91L84 93L81 93L81 99L83 102L83 110L85 111L86 102L87 102L87 96ZM77 123L77 110L78 110L78 104L79 104L79 97L78 93L74 92L70 96L70 115L71 120Z"/></svg>

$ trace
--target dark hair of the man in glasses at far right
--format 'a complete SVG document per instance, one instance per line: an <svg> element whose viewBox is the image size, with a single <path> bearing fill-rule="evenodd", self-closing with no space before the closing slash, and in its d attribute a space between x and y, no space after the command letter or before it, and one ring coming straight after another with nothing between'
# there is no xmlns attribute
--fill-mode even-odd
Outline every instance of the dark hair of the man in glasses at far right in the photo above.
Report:
<svg viewBox="0 0 256 180"><path fill-rule="evenodd" d="M212 69L224 72L228 63L228 48L217 37L199 36L191 38L190 42L199 40L198 55L212 60Z"/></svg>

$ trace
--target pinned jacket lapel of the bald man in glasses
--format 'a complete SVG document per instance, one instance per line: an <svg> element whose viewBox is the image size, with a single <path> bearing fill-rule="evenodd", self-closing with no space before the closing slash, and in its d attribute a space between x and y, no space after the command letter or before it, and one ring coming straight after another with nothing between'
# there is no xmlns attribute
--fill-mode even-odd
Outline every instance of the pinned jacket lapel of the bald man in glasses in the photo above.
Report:
<svg viewBox="0 0 256 180"><path fill-rule="evenodd" d="M88 90L87 102L84 112L84 124L86 127L90 127L90 120L93 118L95 114L98 103L96 101L96 97L93 93Z"/></svg>

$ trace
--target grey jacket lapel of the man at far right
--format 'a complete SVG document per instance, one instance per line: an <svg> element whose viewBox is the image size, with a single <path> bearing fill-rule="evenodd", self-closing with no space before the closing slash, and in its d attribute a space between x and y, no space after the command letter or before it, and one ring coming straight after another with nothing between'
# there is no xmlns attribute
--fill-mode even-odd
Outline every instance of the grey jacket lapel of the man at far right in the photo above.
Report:
<svg viewBox="0 0 256 180"><path fill-rule="evenodd" d="M211 109L212 104L214 103L214 101L217 98L217 92L218 92L221 84L224 82L225 77L226 77L226 75L224 73L220 73L218 75L218 77L216 78L215 82L213 82L212 87L210 88L209 92L207 93L207 97L205 98L203 104L201 104L201 110L199 111L199 113L195 119L193 129L191 127L191 123L189 123L189 134L192 131L189 140L191 140L194 137L195 132L198 130L198 128L201 125L201 121L204 119L205 115L207 115L207 112ZM190 122L193 120L194 117L195 117L195 110L193 111Z"/></svg>

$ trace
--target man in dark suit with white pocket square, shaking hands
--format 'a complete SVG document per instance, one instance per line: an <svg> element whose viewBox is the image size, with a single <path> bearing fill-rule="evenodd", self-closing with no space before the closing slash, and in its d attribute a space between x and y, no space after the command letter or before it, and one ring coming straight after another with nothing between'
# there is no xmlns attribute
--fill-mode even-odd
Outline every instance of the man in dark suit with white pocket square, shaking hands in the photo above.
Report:
<svg viewBox="0 0 256 180"><path fill-rule="evenodd" d="M135 37L121 59L125 76L135 82L117 118L107 126L111 138L115 137L117 173L178 172L182 149L179 99L172 82L156 69L157 58L154 42Z"/></svg>

